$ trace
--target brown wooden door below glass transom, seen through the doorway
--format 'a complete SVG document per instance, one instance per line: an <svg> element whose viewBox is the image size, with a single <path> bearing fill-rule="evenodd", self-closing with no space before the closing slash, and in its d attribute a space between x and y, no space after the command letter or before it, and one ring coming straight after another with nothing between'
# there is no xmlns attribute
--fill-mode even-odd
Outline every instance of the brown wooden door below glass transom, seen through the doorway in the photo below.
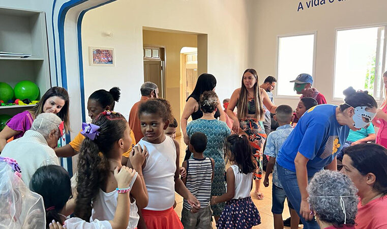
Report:
<svg viewBox="0 0 387 229"><path fill-rule="evenodd" d="M164 98L162 61L144 61L144 82L156 83L159 97Z"/></svg>

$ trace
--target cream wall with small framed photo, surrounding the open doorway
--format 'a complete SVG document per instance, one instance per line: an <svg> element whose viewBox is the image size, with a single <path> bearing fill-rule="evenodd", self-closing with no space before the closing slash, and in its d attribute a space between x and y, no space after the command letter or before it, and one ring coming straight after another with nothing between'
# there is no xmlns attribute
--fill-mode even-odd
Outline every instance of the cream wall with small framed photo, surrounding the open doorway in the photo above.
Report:
<svg viewBox="0 0 387 229"><path fill-rule="evenodd" d="M97 89L119 86L115 110L126 117L143 82L142 27L208 34L208 72L220 99L230 97L248 67L249 2L233 0L119 0L91 10L82 23L85 99ZM113 33L113 37L103 33ZM88 64L88 47L115 48L115 67ZM168 61L168 60L167 60Z"/></svg>

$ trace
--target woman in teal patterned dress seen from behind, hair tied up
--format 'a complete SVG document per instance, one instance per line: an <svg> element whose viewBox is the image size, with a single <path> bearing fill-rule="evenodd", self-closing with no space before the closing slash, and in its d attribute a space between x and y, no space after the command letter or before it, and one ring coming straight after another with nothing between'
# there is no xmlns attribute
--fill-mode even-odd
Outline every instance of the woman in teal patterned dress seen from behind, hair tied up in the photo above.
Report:
<svg viewBox="0 0 387 229"><path fill-rule="evenodd" d="M211 157L215 161L214 168L214 180L211 185L211 195L219 196L226 193L224 171L224 141L225 138L231 134L225 122L215 119L214 115L219 106L219 98L215 92L204 92L200 96L199 100L200 110L203 112L203 116L190 122L187 125L187 136L185 141L189 142L189 138L195 132L204 133L207 137L207 147L204 151L206 157ZM192 157L191 157L192 158ZM224 203L211 206L213 210L213 216L217 221L220 214L223 211Z"/></svg>

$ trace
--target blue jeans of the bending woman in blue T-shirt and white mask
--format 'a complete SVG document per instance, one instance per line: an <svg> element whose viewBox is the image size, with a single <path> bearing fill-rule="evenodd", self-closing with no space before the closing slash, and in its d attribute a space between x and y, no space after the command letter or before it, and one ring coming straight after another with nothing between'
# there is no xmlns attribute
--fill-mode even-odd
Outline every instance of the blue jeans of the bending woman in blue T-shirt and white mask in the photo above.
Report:
<svg viewBox="0 0 387 229"><path fill-rule="evenodd" d="M304 224L304 228L319 229L320 226L314 218L311 221L307 221L300 215L301 193L295 172L286 169L277 163L277 173L278 179L285 190L286 197L297 214L299 214L300 219ZM308 177L308 181L311 178L312 177Z"/></svg>

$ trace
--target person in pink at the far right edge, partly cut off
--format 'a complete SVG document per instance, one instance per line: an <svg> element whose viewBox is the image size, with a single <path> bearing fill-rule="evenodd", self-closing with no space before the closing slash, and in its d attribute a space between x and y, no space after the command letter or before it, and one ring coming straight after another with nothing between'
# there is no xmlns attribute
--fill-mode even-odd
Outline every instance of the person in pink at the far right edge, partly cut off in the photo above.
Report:
<svg viewBox="0 0 387 229"><path fill-rule="evenodd" d="M383 73L383 82L384 95L387 95L387 71ZM387 96L384 96L384 101L372 123L379 127L379 131L376 134L376 144L387 148Z"/></svg>

